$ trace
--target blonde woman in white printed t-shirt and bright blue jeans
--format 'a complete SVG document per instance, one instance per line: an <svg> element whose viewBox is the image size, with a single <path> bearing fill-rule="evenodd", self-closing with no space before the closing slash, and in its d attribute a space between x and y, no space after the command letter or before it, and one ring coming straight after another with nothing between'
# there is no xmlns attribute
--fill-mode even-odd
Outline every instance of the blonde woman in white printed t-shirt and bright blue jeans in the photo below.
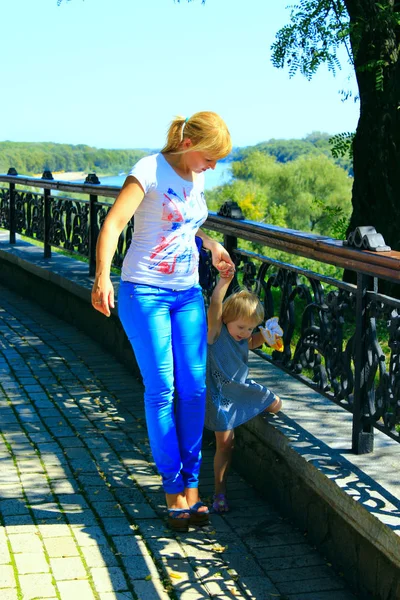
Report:
<svg viewBox="0 0 400 600"><path fill-rule="evenodd" d="M208 523L198 493L205 413L206 320L195 236L222 276L234 265L199 227L207 218L204 172L229 154L228 128L216 113L177 117L160 153L133 167L100 231L94 308L114 306L110 267L118 237L135 215L122 266L118 311L143 383L150 445L166 496L168 523L187 531Z"/></svg>

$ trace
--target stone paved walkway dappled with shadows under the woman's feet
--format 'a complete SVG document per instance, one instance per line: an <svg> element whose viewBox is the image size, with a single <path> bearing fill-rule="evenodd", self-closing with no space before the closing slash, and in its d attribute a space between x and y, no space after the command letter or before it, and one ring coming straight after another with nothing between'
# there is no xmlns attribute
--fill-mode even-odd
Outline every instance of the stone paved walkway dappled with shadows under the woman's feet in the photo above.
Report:
<svg viewBox="0 0 400 600"><path fill-rule="evenodd" d="M2 287L0 431L1 600L355 598L235 473L229 515L170 532L141 384ZM209 499L213 447L204 445Z"/></svg>

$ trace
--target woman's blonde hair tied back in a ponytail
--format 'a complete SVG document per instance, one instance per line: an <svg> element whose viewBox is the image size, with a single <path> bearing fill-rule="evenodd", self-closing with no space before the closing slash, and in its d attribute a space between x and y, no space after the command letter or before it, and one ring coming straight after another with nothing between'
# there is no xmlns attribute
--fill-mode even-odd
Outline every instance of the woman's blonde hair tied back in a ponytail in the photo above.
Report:
<svg viewBox="0 0 400 600"><path fill-rule="evenodd" d="M189 138L190 150L182 150L181 143ZM190 118L175 117L168 129L167 142L161 152L184 153L192 150L207 152L213 160L228 156L232 141L225 121L217 113L198 112Z"/></svg>

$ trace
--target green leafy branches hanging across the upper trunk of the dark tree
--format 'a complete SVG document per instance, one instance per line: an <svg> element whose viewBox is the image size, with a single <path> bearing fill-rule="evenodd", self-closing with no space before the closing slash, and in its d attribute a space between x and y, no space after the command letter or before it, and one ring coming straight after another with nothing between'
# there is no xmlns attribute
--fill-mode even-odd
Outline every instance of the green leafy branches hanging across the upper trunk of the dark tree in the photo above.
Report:
<svg viewBox="0 0 400 600"><path fill-rule="evenodd" d="M349 10L352 7L351 19L346 5ZM393 0L361 1L357 7L348 0L300 0L291 7L290 23L276 34L272 63L278 68L286 65L290 77L300 71L311 79L323 63L335 74L340 68L337 50L344 44L356 72L372 72L376 91L383 92L385 76L399 57L395 33L399 26L398 2ZM378 40L383 43L376 44ZM369 56L364 54L366 46ZM351 95L343 94L345 98Z"/></svg>

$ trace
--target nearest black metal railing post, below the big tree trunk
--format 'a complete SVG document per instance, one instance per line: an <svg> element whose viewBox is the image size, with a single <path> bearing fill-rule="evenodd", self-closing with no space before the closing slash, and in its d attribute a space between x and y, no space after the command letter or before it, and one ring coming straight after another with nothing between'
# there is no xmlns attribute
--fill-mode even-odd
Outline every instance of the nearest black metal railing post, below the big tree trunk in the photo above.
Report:
<svg viewBox="0 0 400 600"><path fill-rule="evenodd" d="M374 428L368 418L367 389L367 331L368 331L368 286L377 292L377 279L357 273L357 308L354 352L354 404L352 451L355 454L368 454L374 450Z"/></svg>

